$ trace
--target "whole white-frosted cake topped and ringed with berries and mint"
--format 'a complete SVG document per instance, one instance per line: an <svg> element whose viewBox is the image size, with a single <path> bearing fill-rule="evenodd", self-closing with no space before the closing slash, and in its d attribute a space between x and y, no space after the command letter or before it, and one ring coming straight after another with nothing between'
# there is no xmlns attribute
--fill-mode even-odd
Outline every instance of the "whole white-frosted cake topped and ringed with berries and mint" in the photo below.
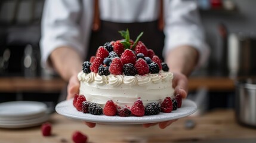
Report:
<svg viewBox="0 0 256 143"><path fill-rule="evenodd" d="M78 111L107 116L144 116L170 113L181 106L174 96L173 74L152 49L125 38L99 46L78 73L79 94L73 104Z"/></svg>

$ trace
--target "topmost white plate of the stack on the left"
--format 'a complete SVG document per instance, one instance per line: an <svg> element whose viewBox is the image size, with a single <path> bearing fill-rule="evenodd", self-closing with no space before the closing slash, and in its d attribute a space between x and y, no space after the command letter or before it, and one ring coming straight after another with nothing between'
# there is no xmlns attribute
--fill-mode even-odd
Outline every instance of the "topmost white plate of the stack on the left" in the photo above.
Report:
<svg viewBox="0 0 256 143"><path fill-rule="evenodd" d="M45 113L47 105L36 101L11 101L0 104L0 118L27 117Z"/></svg>

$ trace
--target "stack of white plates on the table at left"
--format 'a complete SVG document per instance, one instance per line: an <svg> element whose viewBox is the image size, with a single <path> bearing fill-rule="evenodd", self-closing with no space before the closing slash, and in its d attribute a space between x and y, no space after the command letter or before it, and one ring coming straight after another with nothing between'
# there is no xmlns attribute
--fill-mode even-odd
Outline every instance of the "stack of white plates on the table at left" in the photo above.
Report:
<svg viewBox="0 0 256 143"><path fill-rule="evenodd" d="M47 105L36 101L11 101L0 104L0 128L38 126L49 119Z"/></svg>

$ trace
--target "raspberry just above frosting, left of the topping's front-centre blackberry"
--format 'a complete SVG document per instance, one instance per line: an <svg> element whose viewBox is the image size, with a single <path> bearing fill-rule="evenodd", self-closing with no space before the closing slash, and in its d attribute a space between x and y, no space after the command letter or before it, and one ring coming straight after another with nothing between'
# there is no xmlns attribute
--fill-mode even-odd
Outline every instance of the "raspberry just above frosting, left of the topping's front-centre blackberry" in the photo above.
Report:
<svg viewBox="0 0 256 143"><path fill-rule="evenodd" d="M110 73L116 74L116 75L123 73L123 64L120 58L118 57L113 58L112 63L109 66L109 71Z"/></svg>

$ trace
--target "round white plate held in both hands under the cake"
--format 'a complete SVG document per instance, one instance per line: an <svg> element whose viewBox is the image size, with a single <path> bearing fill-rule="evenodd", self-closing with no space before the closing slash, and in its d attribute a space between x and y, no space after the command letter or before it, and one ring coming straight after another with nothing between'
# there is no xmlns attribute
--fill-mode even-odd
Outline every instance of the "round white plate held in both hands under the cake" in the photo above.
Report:
<svg viewBox="0 0 256 143"><path fill-rule="evenodd" d="M133 125L143 123L164 122L167 120L179 119L181 117L189 116L197 110L195 102L185 99L183 100L181 108L178 108L171 113L160 113L158 115L143 116L143 117L119 117L119 116L105 116L84 114L73 107L73 100L62 101L55 107L58 114L63 116L83 120L85 122L103 123L103 124L119 124L119 125Z"/></svg>

